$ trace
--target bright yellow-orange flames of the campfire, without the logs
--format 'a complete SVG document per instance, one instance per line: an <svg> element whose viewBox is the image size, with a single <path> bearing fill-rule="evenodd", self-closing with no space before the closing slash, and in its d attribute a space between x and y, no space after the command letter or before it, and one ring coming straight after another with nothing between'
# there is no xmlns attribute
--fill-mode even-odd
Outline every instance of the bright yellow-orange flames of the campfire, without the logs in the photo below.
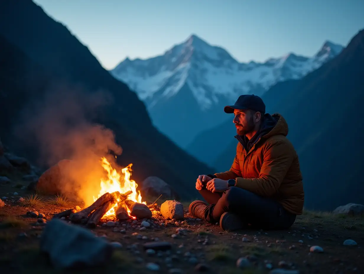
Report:
<svg viewBox="0 0 364 274"><path fill-rule="evenodd" d="M107 180L101 179L100 193L97 197L93 197L94 202L106 192L112 193L115 191L119 191L121 194L123 194L127 191L132 191L132 194L128 196L129 200L132 200L137 203L147 204L146 202L142 202L142 196L140 195L140 191L137 192L138 184L135 183L134 180L130 180L132 164L129 164L127 167L123 168L121 170L122 174L119 174L114 168L112 168L111 164L104 157L102 158L101 165L107 171L108 175L107 175ZM104 216L110 216L110 215L114 216L116 206L117 204L115 204L115 206L112 209L107 211L107 213ZM130 209L127 209L127 211L129 216L135 219L135 217L132 217L130 215Z"/></svg>

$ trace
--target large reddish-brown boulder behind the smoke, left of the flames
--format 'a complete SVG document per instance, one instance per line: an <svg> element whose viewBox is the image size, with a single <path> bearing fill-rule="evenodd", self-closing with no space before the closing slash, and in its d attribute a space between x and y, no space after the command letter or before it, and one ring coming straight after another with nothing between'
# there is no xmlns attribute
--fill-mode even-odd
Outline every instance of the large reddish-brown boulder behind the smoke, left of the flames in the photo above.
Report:
<svg viewBox="0 0 364 274"><path fill-rule="evenodd" d="M35 187L45 195L56 195L62 193L62 189L60 188L60 186L63 180L68 179L67 171L69 170L68 167L71 163L71 160L65 159L48 168L39 177ZM29 188L31 184L29 184Z"/></svg>

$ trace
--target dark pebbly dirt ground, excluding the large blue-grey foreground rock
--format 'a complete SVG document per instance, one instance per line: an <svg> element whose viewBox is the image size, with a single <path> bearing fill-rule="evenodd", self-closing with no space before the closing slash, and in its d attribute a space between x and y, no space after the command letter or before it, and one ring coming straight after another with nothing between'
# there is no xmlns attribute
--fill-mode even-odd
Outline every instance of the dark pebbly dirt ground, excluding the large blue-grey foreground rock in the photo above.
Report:
<svg viewBox="0 0 364 274"><path fill-rule="evenodd" d="M14 195L17 192L17 195ZM55 213L76 206L56 197L40 196L42 202L24 204L29 193L21 184L0 186L0 272L1 273L269 273L273 269L295 269L298 273L364 273L364 218L305 211L286 231L244 230L226 232L219 226L192 218L187 212L181 221L165 220L154 215L153 225L140 231L140 221L120 222L116 227L100 226L92 229L98 236L117 241L122 247L114 252L104 266L78 271L54 269L39 252L39 238L44 225L30 218L27 211L38 211L50 221ZM19 198L23 197L23 203ZM153 202L153 201L152 201ZM160 203L161 201L159 201ZM185 211L189 203L183 203ZM82 207L81 204L79 206ZM102 222L108 220L102 219ZM116 221L116 220L115 220ZM134 221L134 223L133 223ZM163 223L164 225L161 225ZM188 230L177 235L177 227ZM122 232L120 232L122 231ZM143 237L146 236L146 237ZM157 238L157 239L156 239ZM244 238L244 241L243 241ZM346 239L356 246L344 246ZM147 254L143 244L167 241L170 251ZM299 242L302 240L303 242ZM310 246L320 246L323 253L311 253ZM237 259L248 255L250 267L240 269ZM156 263L152 271L147 263ZM267 268L268 267L268 268Z"/></svg>

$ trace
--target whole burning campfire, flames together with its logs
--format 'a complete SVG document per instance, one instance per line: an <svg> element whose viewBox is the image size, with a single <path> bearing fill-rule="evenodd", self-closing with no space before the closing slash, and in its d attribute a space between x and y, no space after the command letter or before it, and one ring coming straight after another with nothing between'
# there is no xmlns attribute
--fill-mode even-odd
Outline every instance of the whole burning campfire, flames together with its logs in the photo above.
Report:
<svg viewBox="0 0 364 274"><path fill-rule="evenodd" d="M107 179L101 179L100 192L94 203L76 212L69 209L55 215L56 218L69 217L73 223L83 223L94 228L103 217L114 217L120 221L130 218L151 218L152 212L146 202L142 202L138 184L130 180L131 166L116 171L106 158L101 159L103 168L107 171Z"/></svg>

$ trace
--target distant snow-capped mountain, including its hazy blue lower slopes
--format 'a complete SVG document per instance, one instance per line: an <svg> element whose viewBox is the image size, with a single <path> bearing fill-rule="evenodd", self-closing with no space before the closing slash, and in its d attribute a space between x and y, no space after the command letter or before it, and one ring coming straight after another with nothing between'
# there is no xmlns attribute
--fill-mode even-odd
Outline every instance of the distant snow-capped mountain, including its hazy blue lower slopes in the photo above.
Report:
<svg viewBox="0 0 364 274"><path fill-rule="evenodd" d="M159 130L186 148L200 132L224 122L223 106L239 95L261 95L277 82L300 79L342 49L326 41L312 57L289 53L239 63L225 49L191 35L162 55L126 58L110 73L137 92Z"/></svg>

